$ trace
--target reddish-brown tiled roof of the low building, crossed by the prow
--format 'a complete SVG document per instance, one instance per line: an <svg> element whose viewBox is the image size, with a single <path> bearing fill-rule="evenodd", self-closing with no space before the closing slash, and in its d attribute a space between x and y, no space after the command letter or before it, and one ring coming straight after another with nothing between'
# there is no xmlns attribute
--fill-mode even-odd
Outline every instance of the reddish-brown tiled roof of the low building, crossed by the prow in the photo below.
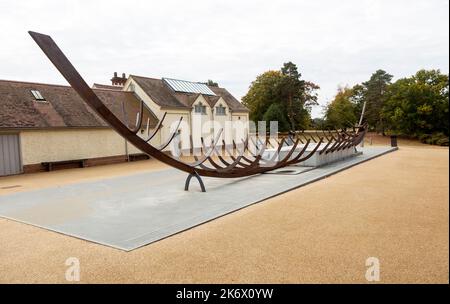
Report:
<svg viewBox="0 0 450 304"><path fill-rule="evenodd" d="M36 101L31 90L38 90L46 99ZM122 104L130 124L135 122L139 101L132 92L94 89L106 106L124 121ZM150 118L150 127L157 118L146 110L143 123ZM69 86L0 80L0 129L7 128L86 128L108 127Z"/></svg>

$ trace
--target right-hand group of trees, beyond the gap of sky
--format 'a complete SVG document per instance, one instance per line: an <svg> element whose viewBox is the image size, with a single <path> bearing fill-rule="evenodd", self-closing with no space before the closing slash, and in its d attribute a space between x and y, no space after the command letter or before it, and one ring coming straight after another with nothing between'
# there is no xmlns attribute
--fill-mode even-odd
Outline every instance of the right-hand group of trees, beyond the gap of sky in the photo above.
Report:
<svg viewBox="0 0 450 304"><path fill-rule="evenodd" d="M439 70L420 70L392 82L383 70L353 87L339 88L325 109L322 127L343 128L364 119L372 131L448 145L449 82Z"/></svg>

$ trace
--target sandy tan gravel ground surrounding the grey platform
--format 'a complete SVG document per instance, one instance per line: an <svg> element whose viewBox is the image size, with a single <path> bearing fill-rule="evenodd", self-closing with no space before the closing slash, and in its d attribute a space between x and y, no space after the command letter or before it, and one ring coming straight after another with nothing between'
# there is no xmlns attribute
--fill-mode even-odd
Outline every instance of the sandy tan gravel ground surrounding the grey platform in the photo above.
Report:
<svg viewBox="0 0 450 304"><path fill-rule="evenodd" d="M0 178L0 195L158 170L142 161ZM449 282L449 150L395 153L132 252L0 218L0 283ZM2 189L3 188L3 189ZM205 204L207 201L205 201Z"/></svg>

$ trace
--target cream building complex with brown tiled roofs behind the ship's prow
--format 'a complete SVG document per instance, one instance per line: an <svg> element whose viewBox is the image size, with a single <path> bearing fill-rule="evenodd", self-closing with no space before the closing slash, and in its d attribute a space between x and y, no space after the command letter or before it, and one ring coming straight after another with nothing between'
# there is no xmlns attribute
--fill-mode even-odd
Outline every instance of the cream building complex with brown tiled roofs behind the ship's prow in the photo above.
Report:
<svg viewBox="0 0 450 304"><path fill-rule="evenodd" d="M202 136L213 135L218 124L226 121L248 123L248 109L224 88L166 78L117 77L116 73L111 81L113 85L94 84L94 91L116 116L130 124L143 100L142 134L154 129L167 112L153 145L166 141L172 123L180 117L182 138L192 134L198 118L214 122ZM0 176L143 157L71 87L0 80Z"/></svg>

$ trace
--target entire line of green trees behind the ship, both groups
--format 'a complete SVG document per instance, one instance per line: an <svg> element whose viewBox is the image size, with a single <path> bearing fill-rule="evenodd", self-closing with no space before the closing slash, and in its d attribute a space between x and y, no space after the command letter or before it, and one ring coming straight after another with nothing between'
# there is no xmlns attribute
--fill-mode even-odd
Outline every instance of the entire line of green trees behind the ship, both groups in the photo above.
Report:
<svg viewBox="0 0 450 304"><path fill-rule="evenodd" d="M420 70L392 79L377 70L363 83L340 87L323 118L311 119L319 86L302 79L297 66L287 62L280 70L259 75L242 101L251 120L278 121L280 131L355 126L364 108L364 122L371 131L448 145L449 76L440 70Z"/></svg>

